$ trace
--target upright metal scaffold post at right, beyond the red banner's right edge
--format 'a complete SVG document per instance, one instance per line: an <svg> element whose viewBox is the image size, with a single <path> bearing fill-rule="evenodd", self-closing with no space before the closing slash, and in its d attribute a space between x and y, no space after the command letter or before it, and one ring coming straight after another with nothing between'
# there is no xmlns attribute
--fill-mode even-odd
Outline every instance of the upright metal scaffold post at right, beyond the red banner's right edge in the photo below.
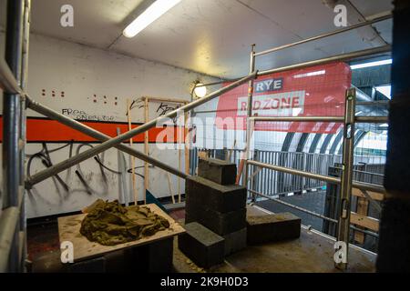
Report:
<svg viewBox="0 0 410 291"><path fill-rule="evenodd" d="M344 242L345 254L341 262L335 262L339 269L346 269L349 254L350 207L353 185L354 164L354 114L356 91L346 91L344 125L343 125L343 165L341 176L341 199L338 219L337 241Z"/></svg>

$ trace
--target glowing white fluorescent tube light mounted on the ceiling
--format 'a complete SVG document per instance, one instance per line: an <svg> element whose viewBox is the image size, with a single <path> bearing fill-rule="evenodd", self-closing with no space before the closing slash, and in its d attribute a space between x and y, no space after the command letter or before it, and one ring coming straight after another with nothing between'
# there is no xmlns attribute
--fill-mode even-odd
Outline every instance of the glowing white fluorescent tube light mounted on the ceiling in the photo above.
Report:
<svg viewBox="0 0 410 291"><path fill-rule="evenodd" d="M144 28L156 21L161 15L169 11L170 8L177 5L180 0L157 0L150 5L142 14L131 22L123 31L123 35L134 37Z"/></svg>

